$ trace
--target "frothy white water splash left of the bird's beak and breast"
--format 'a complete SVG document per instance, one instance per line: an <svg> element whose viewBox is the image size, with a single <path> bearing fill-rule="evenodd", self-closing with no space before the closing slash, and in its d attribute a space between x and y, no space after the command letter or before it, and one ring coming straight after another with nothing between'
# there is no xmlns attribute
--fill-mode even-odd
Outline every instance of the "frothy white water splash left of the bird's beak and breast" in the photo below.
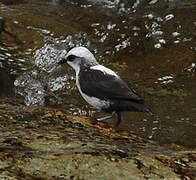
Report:
<svg viewBox="0 0 196 180"><path fill-rule="evenodd" d="M23 73L14 82L16 93L24 97L27 106L43 106L50 91L64 87L66 76L53 77L52 72L66 53L64 48L59 48L55 43L46 43L35 52L33 70Z"/></svg>

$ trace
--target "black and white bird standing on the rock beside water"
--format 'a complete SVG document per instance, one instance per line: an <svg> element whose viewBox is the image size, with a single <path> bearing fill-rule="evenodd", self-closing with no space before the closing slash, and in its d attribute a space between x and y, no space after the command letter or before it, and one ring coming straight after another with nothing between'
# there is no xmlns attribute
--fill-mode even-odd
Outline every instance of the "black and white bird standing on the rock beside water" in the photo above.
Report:
<svg viewBox="0 0 196 180"><path fill-rule="evenodd" d="M81 96L93 108L117 115L117 124L122 121L122 112L153 112L144 105L143 98L129 87L113 70L99 64L86 47L74 47L58 65L67 63L76 74L76 86ZM97 119L106 120L112 116Z"/></svg>

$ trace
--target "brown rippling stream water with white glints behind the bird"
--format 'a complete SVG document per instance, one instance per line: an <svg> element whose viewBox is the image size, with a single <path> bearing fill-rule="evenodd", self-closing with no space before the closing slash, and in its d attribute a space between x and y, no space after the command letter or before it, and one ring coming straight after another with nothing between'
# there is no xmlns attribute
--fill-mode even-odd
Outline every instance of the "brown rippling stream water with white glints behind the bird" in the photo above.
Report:
<svg viewBox="0 0 196 180"><path fill-rule="evenodd" d="M83 45L132 85L156 114L124 113L119 131L195 147L193 0L1 2L9 33L0 35L0 61L17 77L16 92L26 105L89 114L74 72L55 64L70 48Z"/></svg>

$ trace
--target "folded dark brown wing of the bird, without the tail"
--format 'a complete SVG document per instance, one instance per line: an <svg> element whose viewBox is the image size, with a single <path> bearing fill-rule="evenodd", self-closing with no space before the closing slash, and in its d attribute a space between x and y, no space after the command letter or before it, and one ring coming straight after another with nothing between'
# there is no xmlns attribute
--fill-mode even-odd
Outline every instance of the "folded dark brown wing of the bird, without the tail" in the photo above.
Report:
<svg viewBox="0 0 196 180"><path fill-rule="evenodd" d="M79 83L82 92L88 96L108 100L131 100L143 103L143 99L137 95L127 84L111 74L100 70L85 69L79 73Z"/></svg>

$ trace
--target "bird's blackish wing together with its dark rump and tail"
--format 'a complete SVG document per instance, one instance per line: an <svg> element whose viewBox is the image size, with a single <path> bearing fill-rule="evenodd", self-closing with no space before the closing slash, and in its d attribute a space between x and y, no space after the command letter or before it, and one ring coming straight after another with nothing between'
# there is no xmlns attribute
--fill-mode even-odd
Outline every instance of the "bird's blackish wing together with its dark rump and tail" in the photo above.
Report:
<svg viewBox="0 0 196 180"><path fill-rule="evenodd" d="M105 111L138 111L153 113L144 106L144 100L120 78L101 70L81 67L79 72L81 91L90 97L110 101Z"/></svg>

